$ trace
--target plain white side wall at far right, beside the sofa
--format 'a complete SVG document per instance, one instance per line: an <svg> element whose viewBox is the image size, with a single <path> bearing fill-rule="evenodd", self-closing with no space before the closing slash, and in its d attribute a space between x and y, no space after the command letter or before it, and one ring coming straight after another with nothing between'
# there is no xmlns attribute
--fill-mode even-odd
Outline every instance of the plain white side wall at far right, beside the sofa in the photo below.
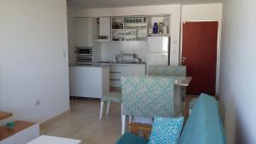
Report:
<svg viewBox="0 0 256 144"><path fill-rule="evenodd" d="M256 143L256 1L225 0L220 59L228 143Z"/></svg>

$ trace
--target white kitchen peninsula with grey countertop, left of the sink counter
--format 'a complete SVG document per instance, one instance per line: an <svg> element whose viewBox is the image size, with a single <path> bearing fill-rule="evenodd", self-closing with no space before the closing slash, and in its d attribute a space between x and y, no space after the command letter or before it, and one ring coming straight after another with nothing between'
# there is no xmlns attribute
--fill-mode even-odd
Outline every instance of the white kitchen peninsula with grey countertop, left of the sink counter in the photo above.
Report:
<svg viewBox="0 0 256 144"><path fill-rule="evenodd" d="M108 64L69 65L71 96L102 98L109 92Z"/></svg>

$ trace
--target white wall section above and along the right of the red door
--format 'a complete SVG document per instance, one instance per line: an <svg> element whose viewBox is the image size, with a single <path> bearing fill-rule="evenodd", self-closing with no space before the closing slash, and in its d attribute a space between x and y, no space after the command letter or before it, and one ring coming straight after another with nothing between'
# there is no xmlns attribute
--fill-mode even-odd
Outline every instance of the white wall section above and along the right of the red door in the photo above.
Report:
<svg viewBox="0 0 256 144"><path fill-rule="evenodd" d="M221 46L222 3L189 4L182 6L182 22L185 21L218 21L218 48L216 69L216 94L219 85L219 60ZM182 24L181 24L182 25ZM181 26L182 28L182 26Z"/></svg>

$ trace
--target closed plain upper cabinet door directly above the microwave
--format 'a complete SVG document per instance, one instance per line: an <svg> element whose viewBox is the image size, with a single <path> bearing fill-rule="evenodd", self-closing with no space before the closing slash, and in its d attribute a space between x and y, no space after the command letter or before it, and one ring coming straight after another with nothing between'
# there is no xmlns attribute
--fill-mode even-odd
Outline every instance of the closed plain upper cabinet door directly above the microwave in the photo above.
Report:
<svg viewBox="0 0 256 144"><path fill-rule="evenodd" d="M75 47L93 46L93 18L74 18L73 34Z"/></svg>

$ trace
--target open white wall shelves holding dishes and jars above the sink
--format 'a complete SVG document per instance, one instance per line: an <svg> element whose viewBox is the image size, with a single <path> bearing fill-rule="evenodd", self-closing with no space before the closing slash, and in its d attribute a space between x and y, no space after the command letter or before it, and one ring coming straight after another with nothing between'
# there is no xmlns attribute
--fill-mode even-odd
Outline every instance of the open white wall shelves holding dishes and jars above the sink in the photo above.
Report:
<svg viewBox="0 0 256 144"><path fill-rule="evenodd" d="M114 16L108 20L108 39L97 39L94 42L146 41L147 37L171 36L171 14ZM153 32L154 23L158 24L157 33Z"/></svg>

